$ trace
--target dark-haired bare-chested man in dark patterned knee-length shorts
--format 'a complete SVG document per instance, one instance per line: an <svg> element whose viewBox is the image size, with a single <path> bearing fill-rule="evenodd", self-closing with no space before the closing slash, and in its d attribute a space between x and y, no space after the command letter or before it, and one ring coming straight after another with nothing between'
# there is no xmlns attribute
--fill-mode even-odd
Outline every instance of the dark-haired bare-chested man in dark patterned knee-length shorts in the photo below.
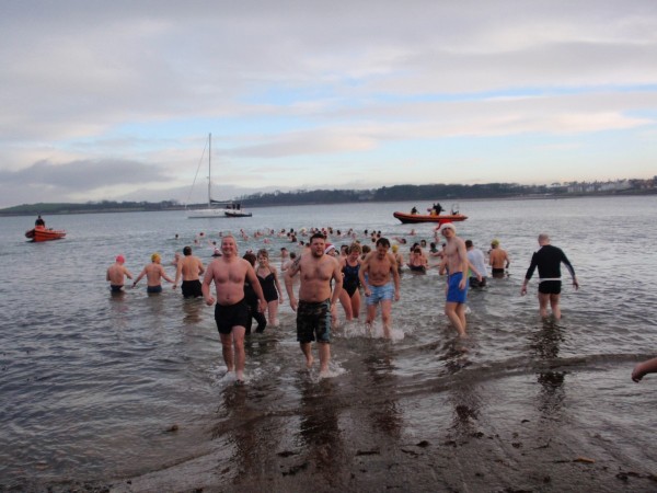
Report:
<svg viewBox="0 0 657 493"><path fill-rule="evenodd" d="M310 252L302 253L288 267L285 274L285 288L290 307L297 312L297 341L306 366L312 367L311 343L319 343L320 375L328 371L331 360L331 313L342 291L343 275L339 263L331 255L324 254L326 248L324 236L320 232L310 238ZM292 289L293 277L300 273L299 302ZM333 279L333 293L331 293Z"/></svg>

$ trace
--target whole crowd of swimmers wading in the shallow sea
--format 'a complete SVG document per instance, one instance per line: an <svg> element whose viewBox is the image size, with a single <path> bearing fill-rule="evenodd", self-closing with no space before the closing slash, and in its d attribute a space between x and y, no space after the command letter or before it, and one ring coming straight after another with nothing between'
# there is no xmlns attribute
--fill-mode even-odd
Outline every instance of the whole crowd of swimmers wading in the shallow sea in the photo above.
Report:
<svg viewBox="0 0 657 493"><path fill-rule="evenodd" d="M415 231L408 237L414 239ZM238 385L244 381L244 339L251 334L253 321L256 333L267 325L278 326L278 307L286 296L297 313L297 341L306 365L308 368L313 365L312 343L315 343L323 376L328 371L331 359L331 331L338 324L341 313L346 321L365 316L366 328L371 331L380 312L383 335L390 337L392 306L401 299L403 272L422 275L437 268L445 275L445 314L458 335L465 337L468 290L485 288L489 276L505 277L510 265L509 255L497 239L491 241L491 248L484 253L472 240L459 238L451 222L437 227L434 241L428 242L425 239L408 241L406 237L393 237L391 242L381 231L357 233L353 229L341 231L331 227L299 231L266 229L253 233L240 230L237 234L219 233L218 238L219 244L203 232L194 238L197 250L206 246L212 250L214 260L207 266L193 254L193 246L186 245L171 262L175 267L173 277L166 274L161 255L153 253L151 262L136 278L126 268L125 257L118 255L107 268L106 278L112 291L120 293L125 277L134 279L132 287L146 277L149 294L161 293L163 279L174 289L180 286L185 298L203 298L207 305L215 306L223 358L228 370L234 371ZM180 240L177 234L175 239ZM238 239L247 244L256 241L262 248L247 250L240 256ZM290 243L277 252L278 267L270 259L274 239ZM531 257L520 294L527 294L528 283L538 270L540 314L560 319L562 264L570 274L575 289L579 284L563 250L553 246L548 234L540 234L538 241L539 250ZM632 378L639 381L654 371L657 371L657 358L637 365Z"/></svg>

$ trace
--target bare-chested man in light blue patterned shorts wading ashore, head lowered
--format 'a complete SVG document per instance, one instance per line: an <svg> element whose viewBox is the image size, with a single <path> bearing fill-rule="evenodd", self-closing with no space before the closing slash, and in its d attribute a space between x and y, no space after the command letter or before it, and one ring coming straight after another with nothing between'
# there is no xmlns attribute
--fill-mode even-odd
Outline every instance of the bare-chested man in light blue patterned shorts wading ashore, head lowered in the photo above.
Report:
<svg viewBox="0 0 657 493"><path fill-rule="evenodd" d="M360 284L365 286L367 305L366 324L371 328L377 318L377 307L381 305L383 336L390 337L392 300L400 300L400 272L392 253L389 253L390 241L387 238L377 240L377 250L369 253L358 271ZM365 275L367 274L367 283ZM392 278L392 279L391 279Z"/></svg>

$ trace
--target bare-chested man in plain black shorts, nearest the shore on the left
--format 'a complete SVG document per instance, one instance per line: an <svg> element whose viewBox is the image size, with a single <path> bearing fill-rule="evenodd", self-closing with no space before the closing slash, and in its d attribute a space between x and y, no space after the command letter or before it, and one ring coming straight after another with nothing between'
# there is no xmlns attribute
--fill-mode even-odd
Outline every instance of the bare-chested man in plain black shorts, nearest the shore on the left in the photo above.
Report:
<svg viewBox="0 0 657 493"><path fill-rule="evenodd" d="M228 371L235 371L235 383L244 383L244 334L251 322L249 305L244 299L244 282L253 287L262 312L267 301L251 263L238 256L238 245L233 236L221 238L221 256L209 263L203 278L203 296L207 305L214 305L210 284L215 282L217 305L215 322L221 339L221 352Z"/></svg>

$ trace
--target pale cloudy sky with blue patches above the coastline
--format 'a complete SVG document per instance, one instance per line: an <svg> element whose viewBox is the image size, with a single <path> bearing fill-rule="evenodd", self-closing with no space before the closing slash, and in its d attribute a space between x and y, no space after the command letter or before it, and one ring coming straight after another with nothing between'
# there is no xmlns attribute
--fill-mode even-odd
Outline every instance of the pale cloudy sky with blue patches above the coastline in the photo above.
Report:
<svg viewBox="0 0 657 493"><path fill-rule="evenodd" d="M0 207L657 174L655 0L0 0Z"/></svg>

